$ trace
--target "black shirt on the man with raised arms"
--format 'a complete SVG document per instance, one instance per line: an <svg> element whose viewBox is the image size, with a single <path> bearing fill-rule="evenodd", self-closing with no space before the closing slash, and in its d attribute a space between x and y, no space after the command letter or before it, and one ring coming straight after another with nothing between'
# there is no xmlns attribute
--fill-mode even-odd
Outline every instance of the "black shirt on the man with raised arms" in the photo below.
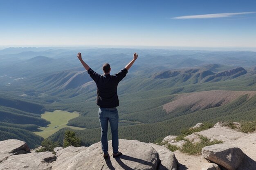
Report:
<svg viewBox="0 0 256 170"><path fill-rule="evenodd" d="M128 73L126 68L123 68L115 75L99 75L92 68L87 72L97 85L97 105L102 108L119 106L117 85Z"/></svg>

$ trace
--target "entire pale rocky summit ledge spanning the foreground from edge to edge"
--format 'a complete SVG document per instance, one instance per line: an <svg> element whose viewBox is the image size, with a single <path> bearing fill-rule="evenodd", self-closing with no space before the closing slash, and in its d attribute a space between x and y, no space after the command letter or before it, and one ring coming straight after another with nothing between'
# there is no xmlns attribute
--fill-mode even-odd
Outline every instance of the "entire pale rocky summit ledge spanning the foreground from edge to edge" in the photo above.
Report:
<svg viewBox="0 0 256 170"><path fill-rule="evenodd" d="M218 122L214 128L193 133L185 137L196 142L198 135L204 135L209 139L222 140L223 147L218 146L222 157L227 160L235 159L239 154L232 156L227 152L230 147L242 150L243 159L235 161L236 170L256 170L256 132L242 133L231 129L225 122ZM233 123L234 126L240 124ZM197 135L198 134L198 135ZM186 141L176 141L177 136L167 136L163 141L168 144L181 147ZM226 146L224 147L224 145ZM213 146L207 146L213 147ZM124 154L117 159L112 158L111 141L109 141L108 159L103 159L101 144L93 144L90 147L54 148L56 156L52 152L34 153L29 150L25 142L9 139L0 141L0 170L224 170L223 166L209 163L202 155L186 155L176 150L169 151L164 146L147 144L136 140L119 140L119 150ZM33 153L30 153L33 152ZM215 156L220 154L216 152ZM238 151L240 152L240 151ZM22 155L18 155L22 154ZM174 155L175 154L175 155ZM225 156L226 155L226 156ZM233 154L234 155L234 154ZM177 159L176 159L177 158ZM177 162L179 161L179 162ZM227 167L226 167L227 168Z"/></svg>

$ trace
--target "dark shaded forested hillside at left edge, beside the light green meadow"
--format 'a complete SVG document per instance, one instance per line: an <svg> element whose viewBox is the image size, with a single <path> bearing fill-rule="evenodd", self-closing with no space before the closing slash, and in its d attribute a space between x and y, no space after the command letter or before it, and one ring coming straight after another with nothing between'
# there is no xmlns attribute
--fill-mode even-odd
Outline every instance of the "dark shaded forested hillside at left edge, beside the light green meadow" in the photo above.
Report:
<svg viewBox="0 0 256 170"><path fill-rule="evenodd" d="M41 113L44 113L42 104L0 97L0 140L23 140L32 148L40 145L43 138L35 135L34 131L38 131L39 126L50 123L40 117Z"/></svg>

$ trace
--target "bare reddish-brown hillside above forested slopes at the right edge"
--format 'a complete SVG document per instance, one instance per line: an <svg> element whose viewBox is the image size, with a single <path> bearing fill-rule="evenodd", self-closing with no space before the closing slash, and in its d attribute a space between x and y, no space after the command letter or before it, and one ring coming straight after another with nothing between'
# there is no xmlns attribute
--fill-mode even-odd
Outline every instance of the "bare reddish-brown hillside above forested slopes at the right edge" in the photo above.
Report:
<svg viewBox="0 0 256 170"><path fill-rule="evenodd" d="M192 111L203 110L206 108L212 108L222 106L233 100L237 99L241 95L248 94L248 98L256 95L256 91L202 91L195 93L186 93L177 95L176 100L173 102L164 104L163 109L167 113L171 113L181 107L191 107Z"/></svg>

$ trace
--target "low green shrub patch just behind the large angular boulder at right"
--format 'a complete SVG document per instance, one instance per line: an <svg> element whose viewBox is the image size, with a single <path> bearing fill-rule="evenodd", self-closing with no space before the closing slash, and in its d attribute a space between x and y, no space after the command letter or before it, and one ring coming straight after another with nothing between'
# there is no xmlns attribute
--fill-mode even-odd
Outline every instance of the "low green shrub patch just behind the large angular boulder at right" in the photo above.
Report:
<svg viewBox="0 0 256 170"><path fill-rule="evenodd" d="M187 141L186 144L182 146L180 149L181 152L187 153L189 155L200 155L202 148L205 146L210 146L214 144L222 144L223 141L214 139L213 141L210 141L207 137L203 135L200 136L200 142L192 143L191 141Z"/></svg>

